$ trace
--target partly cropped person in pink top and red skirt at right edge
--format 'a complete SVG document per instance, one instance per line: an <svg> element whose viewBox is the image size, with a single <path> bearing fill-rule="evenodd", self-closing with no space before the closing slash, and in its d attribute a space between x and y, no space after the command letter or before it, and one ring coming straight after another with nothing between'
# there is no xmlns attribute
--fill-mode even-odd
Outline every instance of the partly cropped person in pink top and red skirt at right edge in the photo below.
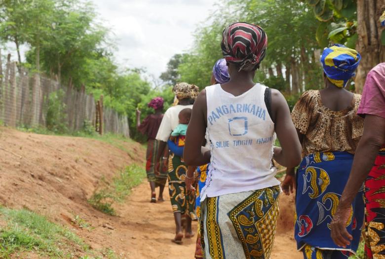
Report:
<svg viewBox="0 0 385 259"><path fill-rule="evenodd" d="M385 258L385 63L380 63L367 75L357 114L365 117L364 132L336 208L331 235L342 248L355 242L346 222L351 215L350 204L364 183L365 258L382 259Z"/></svg>

